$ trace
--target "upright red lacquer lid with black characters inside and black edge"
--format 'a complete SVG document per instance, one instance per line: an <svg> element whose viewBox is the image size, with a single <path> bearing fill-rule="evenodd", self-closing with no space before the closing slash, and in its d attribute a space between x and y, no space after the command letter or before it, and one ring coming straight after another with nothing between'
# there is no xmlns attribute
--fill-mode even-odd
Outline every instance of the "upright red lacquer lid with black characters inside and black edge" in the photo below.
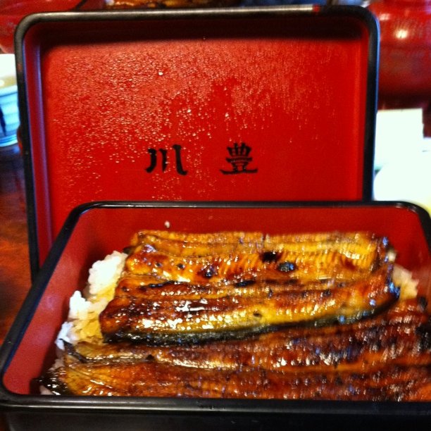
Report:
<svg viewBox="0 0 431 431"><path fill-rule="evenodd" d="M32 268L85 202L370 199L377 51L356 6L26 17Z"/></svg>

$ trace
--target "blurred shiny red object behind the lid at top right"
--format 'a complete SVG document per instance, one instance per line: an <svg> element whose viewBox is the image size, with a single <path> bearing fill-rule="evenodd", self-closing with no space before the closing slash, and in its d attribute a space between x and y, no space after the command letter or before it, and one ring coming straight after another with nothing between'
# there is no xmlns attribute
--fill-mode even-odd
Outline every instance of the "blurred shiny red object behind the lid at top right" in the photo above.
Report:
<svg viewBox="0 0 431 431"><path fill-rule="evenodd" d="M380 0L380 108L423 108L431 136L431 0Z"/></svg>

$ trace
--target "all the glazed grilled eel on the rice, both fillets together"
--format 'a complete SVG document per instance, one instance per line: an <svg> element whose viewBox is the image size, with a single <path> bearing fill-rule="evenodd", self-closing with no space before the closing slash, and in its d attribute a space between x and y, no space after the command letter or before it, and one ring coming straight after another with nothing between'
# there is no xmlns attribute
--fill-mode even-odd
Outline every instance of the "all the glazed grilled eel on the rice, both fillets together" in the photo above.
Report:
<svg viewBox="0 0 431 431"><path fill-rule="evenodd" d="M142 231L128 251L105 342L65 343L52 394L431 399L430 315L398 301L386 239Z"/></svg>

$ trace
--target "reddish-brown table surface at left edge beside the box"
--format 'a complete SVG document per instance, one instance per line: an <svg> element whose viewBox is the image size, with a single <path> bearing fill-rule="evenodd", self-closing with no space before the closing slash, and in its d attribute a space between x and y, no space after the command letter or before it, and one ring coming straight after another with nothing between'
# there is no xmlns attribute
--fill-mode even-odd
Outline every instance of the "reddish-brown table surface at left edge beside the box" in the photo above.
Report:
<svg viewBox="0 0 431 431"><path fill-rule="evenodd" d="M0 344L30 285L23 161L0 152ZM0 415L0 431L6 429Z"/></svg>

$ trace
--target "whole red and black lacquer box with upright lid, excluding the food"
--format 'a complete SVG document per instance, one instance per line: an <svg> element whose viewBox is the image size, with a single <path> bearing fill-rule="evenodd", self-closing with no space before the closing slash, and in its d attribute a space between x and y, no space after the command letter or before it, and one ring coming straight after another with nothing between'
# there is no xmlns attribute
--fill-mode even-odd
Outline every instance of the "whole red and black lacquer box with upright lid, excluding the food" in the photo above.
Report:
<svg viewBox="0 0 431 431"><path fill-rule="evenodd" d="M430 298L429 215L370 201L373 15L42 13L15 43L35 282L0 356L13 429L426 429L427 402L88 398L34 385L54 361L70 294L137 229L371 230Z"/></svg>

